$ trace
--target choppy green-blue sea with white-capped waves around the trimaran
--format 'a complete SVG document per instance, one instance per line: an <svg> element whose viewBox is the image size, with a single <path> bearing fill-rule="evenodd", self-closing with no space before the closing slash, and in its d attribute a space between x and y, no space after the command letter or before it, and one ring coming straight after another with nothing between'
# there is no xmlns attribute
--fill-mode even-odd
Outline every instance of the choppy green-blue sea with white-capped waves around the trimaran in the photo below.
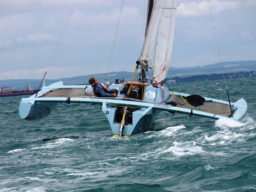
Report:
<svg viewBox="0 0 256 192"><path fill-rule="evenodd" d="M152 131L122 138L98 106L27 121L22 96L0 98L0 192L256 191L256 78L226 82L248 104L239 121L161 112ZM224 80L169 86L228 100Z"/></svg>

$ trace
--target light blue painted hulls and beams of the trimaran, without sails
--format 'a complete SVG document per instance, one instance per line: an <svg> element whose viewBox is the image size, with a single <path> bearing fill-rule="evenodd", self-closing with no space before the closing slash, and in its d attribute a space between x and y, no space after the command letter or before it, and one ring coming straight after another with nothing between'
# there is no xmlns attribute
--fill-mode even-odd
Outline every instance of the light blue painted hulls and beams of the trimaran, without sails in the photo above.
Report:
<svg viewBox="0 0 256 192"><path fill-rule="evenodd" d="M116 88L119 88L120 84L113 85ZM183 107L174 107L172 105L165 104L164 102L154 102L154 100L168 100L171 96L170 92L167 88L161 88L163 90L161 92L160 88L154 88L147 86L145 88L146 91L155 92L157 93L156 98L152 99L150 97L144 97L143 101L134 101L128 100L124 98L123 95L118 93L119 98L99 98L99 97L40 97L44 93L51 92L53 89L65 89L65 88L84 88L84 85L77 85L77 86L63 86L62 82L57 82L52 84L48 87L43 87L40 92L38 92L37 97L32 95L29 98L23 98L20 102L19 113L22 119L27 120L34 120L40 119L45 116L48 116L52 110L56 107L57 103L66 103L67 99L69 103L91 103L91 104L102 104L102 111L107 116L109 124L111 126L113 135L119 135L120 133L120 122L116 122L116 113L117 113L117 106L123 107L135 107L140 108L133 112L132 115L132 123L128 123L124 126L122 134L124 136L130 136L141 132L146 132L151 129L152 124L154 123L156 116L159 114L160 111L168 111L170 113L182 113L194 116L201 116L207 117L212 119L219 119L219 118L228 118L222 115L208 113L205 111L200 110L192 110L189 108ZM159 89L159 90L158 90ZM145 91L145 92L146 92ZM180 95L183 97L188 96L185 93L176 93L172 92L172 94ZM218 102L222 104L228 105L227 101L216 100L212 98L204 97L205 100L211 100L212 102ZM151 101L152 100L152 101ZM236 108L235 112L232 114L230 118L238 120L241 118L247 109L246 101L242 98L237 100L235 103L231 103L234 108Z"/></svg>

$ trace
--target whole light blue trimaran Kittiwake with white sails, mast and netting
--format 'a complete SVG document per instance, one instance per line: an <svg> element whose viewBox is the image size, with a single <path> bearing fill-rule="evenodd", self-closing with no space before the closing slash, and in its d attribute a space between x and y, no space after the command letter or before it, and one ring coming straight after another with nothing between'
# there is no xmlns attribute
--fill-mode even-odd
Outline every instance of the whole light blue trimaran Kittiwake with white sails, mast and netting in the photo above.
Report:
<svg viewBox="0 0 256 192"><path fill-rule="evenodd" d="M84 85L63 85L57 82L43 86L42 90L20 102L22 119L34 120L48 116L57 103L89 103L102 105L114 136L130 136L150 130L161 111L181 113L212 119L231 118L238 120L247 109L242 98L235 103L199 95L170 92L163 81L171 62L176 2L174 0L149 0L147 23L143 46L129 88L139 86L141 100L130 99L123 94L124 82L116 81L111 88L119 90L116 98L102 98L84 95ZM153 56L155 55L154 62ZM137 70L140 77L135 80ZM148 69L154 74L148 78ZM130 89L127 95L129 95ZM122 115L118 111L124 108ZM129 108L133 108L128 117ZM135 109L135 111L134 111ZM136 110L137 109L137 110Z"/></svg>

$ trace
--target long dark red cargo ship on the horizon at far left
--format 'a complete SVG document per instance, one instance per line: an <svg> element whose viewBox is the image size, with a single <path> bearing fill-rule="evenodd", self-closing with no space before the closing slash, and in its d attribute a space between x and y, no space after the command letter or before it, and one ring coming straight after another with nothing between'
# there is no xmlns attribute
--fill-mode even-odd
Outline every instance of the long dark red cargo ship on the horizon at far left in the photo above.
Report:
<svg viewBox="0 0 256 192"><path fill-rule="evenodd" d="M31 89L30 85L26 86L25 90L13 90L12 87L2 87L0 97L18 96L18 95L33 95L38 89Z"/></svg>

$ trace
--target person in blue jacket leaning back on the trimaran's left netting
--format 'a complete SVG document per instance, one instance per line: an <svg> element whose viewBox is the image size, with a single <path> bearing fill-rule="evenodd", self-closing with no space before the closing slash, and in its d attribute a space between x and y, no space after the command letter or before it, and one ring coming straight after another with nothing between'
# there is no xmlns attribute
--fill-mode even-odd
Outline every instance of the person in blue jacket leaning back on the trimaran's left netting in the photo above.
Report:
<svg viewBox="0 0 256 192"><path fill-rule="evenodd" d="M97 97L116 97L118 94L117 89L107 90L104 86L98 83L97 79L91 77L89 83L92 85L94 95Z"/></svg>

